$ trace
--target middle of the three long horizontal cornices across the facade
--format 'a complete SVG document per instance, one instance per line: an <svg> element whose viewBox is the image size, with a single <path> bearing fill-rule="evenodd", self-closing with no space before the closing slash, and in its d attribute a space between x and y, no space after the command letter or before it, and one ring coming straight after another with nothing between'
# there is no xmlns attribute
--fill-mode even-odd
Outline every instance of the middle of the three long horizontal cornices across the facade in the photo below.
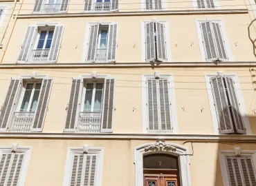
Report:
<svg viewBox="0 0 256 186"><path fill-rule="evenodd" d="M253 67L256 61L157 62L157 63L1 63L0 69L23 68L235 68Z"/></svg>

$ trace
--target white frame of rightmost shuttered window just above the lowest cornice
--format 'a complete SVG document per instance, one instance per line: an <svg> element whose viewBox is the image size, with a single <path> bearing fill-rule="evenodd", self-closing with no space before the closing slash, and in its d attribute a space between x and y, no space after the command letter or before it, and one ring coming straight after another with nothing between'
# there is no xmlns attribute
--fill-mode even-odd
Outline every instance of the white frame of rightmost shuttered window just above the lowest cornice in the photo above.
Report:
<svg viewBox="0 0 256 186"><path fill-rule="evenodd" d="M212 125L213 125L214 134L220 134L220 132L219 132L219 123L218 123L218 118L217 118L217 114L216 114L216 108L214 106L214 98L213 98L213 94L212 94L212 86L210 84L210 79L217 75L218 75L217 73L216 74L205 74L205 83L206 83L206 89L207 89L207 93L208 93L210 112L212 114ZM252 131L250 129L250 122L249 122L248 115L246 112L246 105L244 103L244 98L243 98L243 95L242 95L241 89L240 89L238 76L235 73L232 73L232 74L224 73L224 75L232 77L233 81L235 82L237 99L238 99L238 102L240 103L240 112L241 112L240 114L242 116L241 118L243 119L244 126L246 127L246 134L252 134ZM228 135L228 134L223 134L223 135Z"/></svg>

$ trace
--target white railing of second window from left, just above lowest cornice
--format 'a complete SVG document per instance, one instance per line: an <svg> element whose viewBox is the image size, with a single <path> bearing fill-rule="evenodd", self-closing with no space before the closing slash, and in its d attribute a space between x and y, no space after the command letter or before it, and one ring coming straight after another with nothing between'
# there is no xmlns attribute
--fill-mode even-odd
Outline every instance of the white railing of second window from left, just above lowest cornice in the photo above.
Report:
<svg viewBox="0 0 256 186"><path fill-rule="evenodd" d="M100 132L101 112L80 112L77 132Z"/></svg>

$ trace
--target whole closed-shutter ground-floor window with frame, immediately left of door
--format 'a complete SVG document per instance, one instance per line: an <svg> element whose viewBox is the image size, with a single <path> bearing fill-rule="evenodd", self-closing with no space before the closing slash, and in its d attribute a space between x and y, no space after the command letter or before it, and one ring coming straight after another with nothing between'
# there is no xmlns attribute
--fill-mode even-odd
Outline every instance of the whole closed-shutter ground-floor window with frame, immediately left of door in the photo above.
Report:
<svg viewBox="0 0 256 186"><path fill-rule="evenodd" d="M63 186L100 186L102 177L102 148L69 148Z"/></svg>

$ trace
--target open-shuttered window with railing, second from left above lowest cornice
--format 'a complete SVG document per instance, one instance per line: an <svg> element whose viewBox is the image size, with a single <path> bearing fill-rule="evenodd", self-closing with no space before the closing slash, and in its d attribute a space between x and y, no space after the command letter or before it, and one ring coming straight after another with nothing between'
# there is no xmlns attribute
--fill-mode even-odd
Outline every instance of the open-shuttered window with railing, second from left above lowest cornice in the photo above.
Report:
<svg viewBox="0 0 256 186"><path fill-rule="evenodd" d="M106 76L73 79L64 132L112 132L114 87Z"/></svg>

